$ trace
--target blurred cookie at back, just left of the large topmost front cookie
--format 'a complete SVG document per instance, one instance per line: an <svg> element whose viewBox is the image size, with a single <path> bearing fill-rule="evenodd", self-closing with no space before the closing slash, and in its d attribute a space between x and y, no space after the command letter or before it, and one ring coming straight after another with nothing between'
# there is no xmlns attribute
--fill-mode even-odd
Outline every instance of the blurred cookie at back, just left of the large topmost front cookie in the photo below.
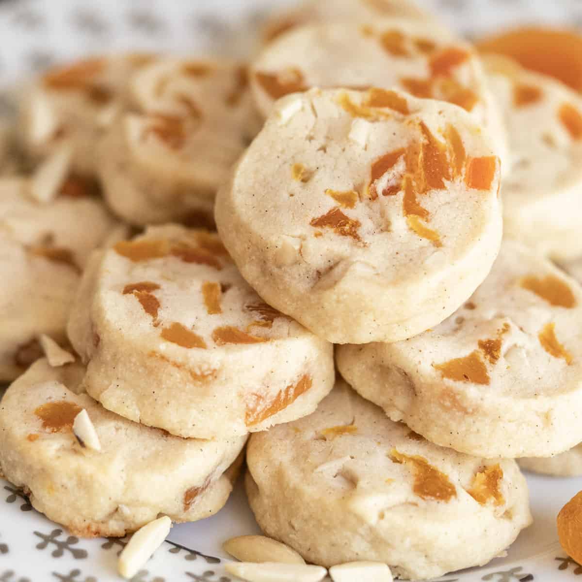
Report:
<svg viewBox="0 0 582 582"><path fill-rule="evenodd" d="M98 148L108 204L137 225L212 222L217 187L260 129L246 68L164 59L136 73L131 90L139 113Z"/></svg>

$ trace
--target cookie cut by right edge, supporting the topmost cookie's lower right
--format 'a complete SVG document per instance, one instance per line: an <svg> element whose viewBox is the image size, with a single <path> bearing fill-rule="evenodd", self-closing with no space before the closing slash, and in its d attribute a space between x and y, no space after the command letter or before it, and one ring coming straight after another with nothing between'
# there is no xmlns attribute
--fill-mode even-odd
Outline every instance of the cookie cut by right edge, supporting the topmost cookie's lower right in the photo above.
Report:
<svg viewBox="0 0 582 582"><path fill-rule="evenodd" d="M582 441L582 288L510 240L441 325L341 346L336 361L364 398L441 446L544 457Z"/></svg>

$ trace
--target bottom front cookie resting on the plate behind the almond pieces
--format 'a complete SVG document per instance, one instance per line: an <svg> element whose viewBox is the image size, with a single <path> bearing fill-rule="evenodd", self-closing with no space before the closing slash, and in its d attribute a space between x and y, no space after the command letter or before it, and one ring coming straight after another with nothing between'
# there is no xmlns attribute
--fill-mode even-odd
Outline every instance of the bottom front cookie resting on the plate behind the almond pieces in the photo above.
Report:
<svg viewBox="0 0 582 582"><path fill-rule="evenodd" d="M432 578L489 562L531 523L513 460L433 445L343 381L311 416L252 435L247 466L261 529L323 566Z"/></svg>

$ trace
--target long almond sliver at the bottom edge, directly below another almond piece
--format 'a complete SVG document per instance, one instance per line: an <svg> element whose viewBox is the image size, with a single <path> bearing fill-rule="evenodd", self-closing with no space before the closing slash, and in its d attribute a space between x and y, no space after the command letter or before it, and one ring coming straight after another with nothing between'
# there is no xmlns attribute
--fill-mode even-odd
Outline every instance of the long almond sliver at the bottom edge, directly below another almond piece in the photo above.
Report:
<svg viewBox="0 0 582 582"><path fill-rule="evenodd" d="M321 566L276 562L231 562L225 565L225 570L248 582L320 582L327 574Z"/></svg>

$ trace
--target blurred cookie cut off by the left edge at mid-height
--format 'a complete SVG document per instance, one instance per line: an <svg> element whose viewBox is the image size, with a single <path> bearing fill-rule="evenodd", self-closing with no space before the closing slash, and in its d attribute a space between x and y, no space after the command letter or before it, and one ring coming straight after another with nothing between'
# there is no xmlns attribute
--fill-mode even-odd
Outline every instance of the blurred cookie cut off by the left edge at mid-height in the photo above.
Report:
<svg viewBox="0 0 582 582"><path fill-rule="evenodd" d="M88 254L119 226L100 200L67 191L40 204L29 196L30 180L0 179L0 381L40 356L41 333L65 341Z"/></svg>

